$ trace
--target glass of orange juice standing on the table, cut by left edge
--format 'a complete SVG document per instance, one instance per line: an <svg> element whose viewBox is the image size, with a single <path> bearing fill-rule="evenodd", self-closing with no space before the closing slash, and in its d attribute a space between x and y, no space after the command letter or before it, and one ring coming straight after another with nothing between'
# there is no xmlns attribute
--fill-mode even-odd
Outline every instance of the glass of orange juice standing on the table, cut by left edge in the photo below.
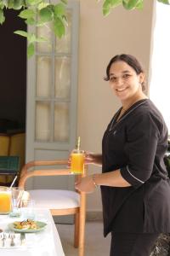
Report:
<svg viewBox="0 0 170 256"><path fill-rule="evenodd" d="M0 187L0 214L8 214L11 208L11 190L7 187Z"/></svg>

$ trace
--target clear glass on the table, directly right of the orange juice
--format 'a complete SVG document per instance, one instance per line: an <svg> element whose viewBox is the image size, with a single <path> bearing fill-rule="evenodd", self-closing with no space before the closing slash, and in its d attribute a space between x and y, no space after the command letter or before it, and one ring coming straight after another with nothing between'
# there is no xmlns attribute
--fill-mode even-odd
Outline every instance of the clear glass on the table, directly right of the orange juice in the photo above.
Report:
<svg viewBox="0 0 170 256"><path fill-rule="evenodd" d="M22 200L22 195L24 193L24 189L20 187L11 188L12 193L12 212L10 212L10 217L20 217L20 205Z"/></svg>

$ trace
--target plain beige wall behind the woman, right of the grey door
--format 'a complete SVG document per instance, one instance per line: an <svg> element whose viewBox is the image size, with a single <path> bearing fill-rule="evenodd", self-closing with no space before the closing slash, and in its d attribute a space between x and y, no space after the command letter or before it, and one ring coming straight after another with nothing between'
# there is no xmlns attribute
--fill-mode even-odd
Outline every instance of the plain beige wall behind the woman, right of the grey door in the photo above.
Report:
<svg viewBox="0 0 170 256"><path fill-rule="evenodd" d="M104 18L101 3L80 0L77 133L85 150L101 151L106 125L120 106L103 80L111 57L120 53L135 55L149 73L153 3L145 0L142 11L118 7ZM94 172L101 170L91 167L89 173ZM88 195L88 211L100 210L100 193L96 190Z"/></svg>

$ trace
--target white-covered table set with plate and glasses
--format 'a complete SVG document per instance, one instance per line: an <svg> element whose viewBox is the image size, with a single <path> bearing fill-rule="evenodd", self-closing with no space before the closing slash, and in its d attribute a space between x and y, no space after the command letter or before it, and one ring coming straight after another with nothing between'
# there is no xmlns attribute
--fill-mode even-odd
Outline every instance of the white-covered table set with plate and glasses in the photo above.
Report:
<svg viewBox="0 0 170 256"><path fill-rule="evenodd" d="M0 248L0 255L3 256L65 256L58 231L54 220L48 209L35 209L36 219L47 223L44 230L37 233L26 234L27 245L24 247ZM8 224L14 221L23 220L20 218L9 218L8 215L0 215L0 229L8 232ZM16 238L20 235L16 234ZM29 240L30 239L30 240Z"/></svg>

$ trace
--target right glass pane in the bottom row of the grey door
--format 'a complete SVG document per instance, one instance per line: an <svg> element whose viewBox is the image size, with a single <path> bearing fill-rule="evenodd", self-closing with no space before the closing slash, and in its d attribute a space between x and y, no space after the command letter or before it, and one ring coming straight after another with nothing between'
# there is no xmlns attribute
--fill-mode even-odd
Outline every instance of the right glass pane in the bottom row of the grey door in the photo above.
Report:
<svg viewBox="0 0 170 256"><path fill-rule="evenodd" d="M55 103L54 141L68 142L69 139L69 104Z"/></svg>

